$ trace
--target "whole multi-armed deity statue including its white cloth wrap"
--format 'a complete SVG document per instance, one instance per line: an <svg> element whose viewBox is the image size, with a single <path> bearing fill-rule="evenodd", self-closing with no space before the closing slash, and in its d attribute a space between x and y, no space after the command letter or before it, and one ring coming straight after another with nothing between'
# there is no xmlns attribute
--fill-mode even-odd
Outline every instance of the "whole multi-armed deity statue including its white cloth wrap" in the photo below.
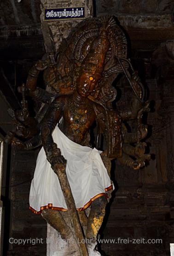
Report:
<svg viewBox="0 0 174 256"><path fill-rule="evenodd" d="M37 85L41 71L46 90ZM120 73L133 91L132 103L124 109L113 107L114 81ZM147 134L142 115L149 110L148 103L127 59L123 31L113 17L82 21L56 54L37 61L21 91L42 103L35 119L29 117L27 107L11 111L16 128L7 138L15 134L27 138L12 139L27 150L43 145L31 184L30 209L41 213L70 242L64 255L101 255L97 235L114 189L110 160L117 158L135 170L150 160L141 142ZM125 122L133 119L137 129L128 132ZM84 238L86 244L80 243Z"/></svg>

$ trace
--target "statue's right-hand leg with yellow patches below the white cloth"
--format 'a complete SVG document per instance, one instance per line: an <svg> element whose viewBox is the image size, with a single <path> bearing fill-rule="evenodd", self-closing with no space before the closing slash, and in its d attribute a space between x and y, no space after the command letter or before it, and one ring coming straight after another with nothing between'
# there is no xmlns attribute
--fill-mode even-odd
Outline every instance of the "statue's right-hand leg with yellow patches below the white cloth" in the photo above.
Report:
<svg viewBox="0 0 174 256"><path fill-rule="evenodd" d="M107 200L105 196L101 196L98 199L94 200L91 206L91 211L89 213L88 222L87 222L87 232L86 232L86 243L89 255L93 254L93 250L97 245L97 235L99 229L103 223L105 215L105 207ZM100 255L97 254L96 255Z"/></svg>

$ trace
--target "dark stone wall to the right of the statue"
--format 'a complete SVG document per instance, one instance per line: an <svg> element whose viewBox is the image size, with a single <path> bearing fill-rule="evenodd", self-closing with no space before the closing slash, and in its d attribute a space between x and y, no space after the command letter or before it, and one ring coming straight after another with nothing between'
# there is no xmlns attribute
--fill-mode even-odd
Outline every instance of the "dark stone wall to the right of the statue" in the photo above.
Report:
<svg viewBox="0 0 174 256"><path fill-rule="evenodd" d="M104 238L162 239L162 244L102 244L110 256L169 256L173 229L173 51L172 1L96 1L97 15L110 12L125 28L133 67L148 86L151 102L148 145L152 160L140 171L116 163L113 177L118 191L104 226ZM168 41L170 50L168 53ZM173 43L172 43L173 42ZM167 45L167 46L166 46ZM130 101L124 80L122 96ZM165 91L165 96L164 96ZM168 106L167 106L168 105ZM169 107L171 106L171 107ZM114 228L113 228L114 227ZM117 241L117 240L116 240Z"/></svg>

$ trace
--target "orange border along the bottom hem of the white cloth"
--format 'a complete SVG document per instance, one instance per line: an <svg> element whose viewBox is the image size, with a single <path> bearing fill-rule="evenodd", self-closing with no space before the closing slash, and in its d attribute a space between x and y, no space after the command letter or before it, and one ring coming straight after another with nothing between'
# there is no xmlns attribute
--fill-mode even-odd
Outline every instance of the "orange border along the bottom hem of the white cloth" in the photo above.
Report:
<svg viewBox="0 0 174 256"><path fill-rule="evenodd" d="M107 192L107 191L109 191L110 189L113 189L113 186L112 186L112 185L110 185L108 188L106 188L106 189L104 189L104 190ZM83 211L83 210L87 209L87 207L89 207L89 206L92 204L92 202L93 202L95 199L99 198L100 196L106 196L106 197L107 197L107 194L106 194L106 193L100 193L100 194L98 194L98 195L95 195L93 198L90 199L90 201L88 201L88 202L85 204L84 207L77 208L77 211ZM63 212L68 211L68 209L65 209L65 208L62 208L62 207L54 207L54 206L52 206L52 204L47 204L46 206L42 206L39 212L37 212L37 211L36 211L35 209L33 209L31 206L29 207L29 209L30 209L33 213L35 213L35 214L41 214L41 211L42 211L42 210L45 210L45 209L52 209L52 210L63 211Z"/></svg>

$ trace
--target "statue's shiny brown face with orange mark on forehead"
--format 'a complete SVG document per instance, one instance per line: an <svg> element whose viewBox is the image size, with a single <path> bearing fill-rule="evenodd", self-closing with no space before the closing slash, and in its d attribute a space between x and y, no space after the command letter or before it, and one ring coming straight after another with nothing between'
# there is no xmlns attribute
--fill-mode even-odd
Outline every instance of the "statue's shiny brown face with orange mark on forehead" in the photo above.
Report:
<svg viewBox="0 0 174 256"><path fill-rule="evenodd" d="M77 79L76 90L77 93L84 98L87 98L93 91L95 91L95 86L99 77L96 75L91 75L87 73L83 73Z"/></svg>

